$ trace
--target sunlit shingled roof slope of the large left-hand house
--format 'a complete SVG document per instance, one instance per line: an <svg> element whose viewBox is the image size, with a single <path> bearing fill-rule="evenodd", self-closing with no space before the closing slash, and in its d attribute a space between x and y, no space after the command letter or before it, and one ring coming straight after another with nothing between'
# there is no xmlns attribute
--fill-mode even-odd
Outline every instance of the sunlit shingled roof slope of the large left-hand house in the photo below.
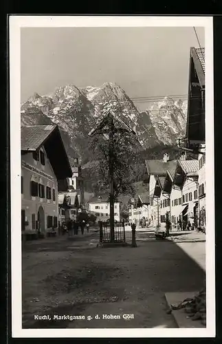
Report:
<svg viewBox="0 0 222 344"><path fill-rule="evenodd" d="M21 150L36 151L54 131L56 125L33 125L21 127Z"/></svg>

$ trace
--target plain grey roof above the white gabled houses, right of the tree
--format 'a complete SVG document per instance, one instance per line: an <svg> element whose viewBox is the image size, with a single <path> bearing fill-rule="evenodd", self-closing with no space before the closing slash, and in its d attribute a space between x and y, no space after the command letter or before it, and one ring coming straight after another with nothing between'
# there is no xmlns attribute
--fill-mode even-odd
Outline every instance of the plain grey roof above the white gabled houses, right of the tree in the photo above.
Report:
<svg viewBox="0 0 222 344"><path fill-rule="evenodd" d="M145 160L147 173L150 175L166 175L167 170L175 168L177 160L169 160L164 162L163 160Z"/></svg>

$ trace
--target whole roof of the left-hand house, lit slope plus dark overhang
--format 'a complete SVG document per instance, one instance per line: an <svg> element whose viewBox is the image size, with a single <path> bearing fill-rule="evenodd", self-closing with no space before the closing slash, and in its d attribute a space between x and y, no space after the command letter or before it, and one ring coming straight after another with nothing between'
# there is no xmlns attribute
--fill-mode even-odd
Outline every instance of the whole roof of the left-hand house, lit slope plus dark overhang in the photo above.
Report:
<svg viewBox="0 0 222 344"><path fill-rule="evenodd" d="M21 127L21 151L36 151L44 146L57 180L71 177L71 166L58 125Z"/></svg>

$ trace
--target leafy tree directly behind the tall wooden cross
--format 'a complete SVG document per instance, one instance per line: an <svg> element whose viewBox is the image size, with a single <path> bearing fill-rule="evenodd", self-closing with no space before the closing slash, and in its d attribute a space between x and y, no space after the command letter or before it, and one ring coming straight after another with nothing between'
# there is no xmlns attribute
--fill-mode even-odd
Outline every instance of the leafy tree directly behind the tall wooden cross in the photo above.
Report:
<svg viewBox="0 0 222 344"><path fill-rule="evenodd" d="M118 201L120 194L134 194L132 184L133 177L137 174L136 162L141 145L131 128L121 118L121 108L119 105L104 107L104 114L111 114L115 129L112 136L112 164L113 164L113 197ZM129 131L127 131L127 127ZM122 128L122 129L121 129ZM106 129L103 130L103 132ZM109 132L101 135L101 131L91 138L90 149L93 156L98 160L98 178L100 191L109 187L110 171L110 141ZM136 178L135 178L136 179ZM109 200L108 200L109 202Z"/></svg>

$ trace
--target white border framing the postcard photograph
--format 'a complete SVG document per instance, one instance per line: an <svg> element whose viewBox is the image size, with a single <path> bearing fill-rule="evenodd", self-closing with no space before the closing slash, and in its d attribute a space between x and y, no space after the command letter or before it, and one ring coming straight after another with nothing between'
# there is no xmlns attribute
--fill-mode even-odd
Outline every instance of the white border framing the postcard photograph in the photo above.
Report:
<svg viewBox="0 0 222 344"><path fill-rule="evenodd" d="M195 26L205 28L206 42L206 287L207 327L192 329L22 329L21 310L21 56L20 29L29 27ZM214 102L212 17L10 16L10 178L12 336L31 337L213 337L215 336L214 268Z"/></svg>

